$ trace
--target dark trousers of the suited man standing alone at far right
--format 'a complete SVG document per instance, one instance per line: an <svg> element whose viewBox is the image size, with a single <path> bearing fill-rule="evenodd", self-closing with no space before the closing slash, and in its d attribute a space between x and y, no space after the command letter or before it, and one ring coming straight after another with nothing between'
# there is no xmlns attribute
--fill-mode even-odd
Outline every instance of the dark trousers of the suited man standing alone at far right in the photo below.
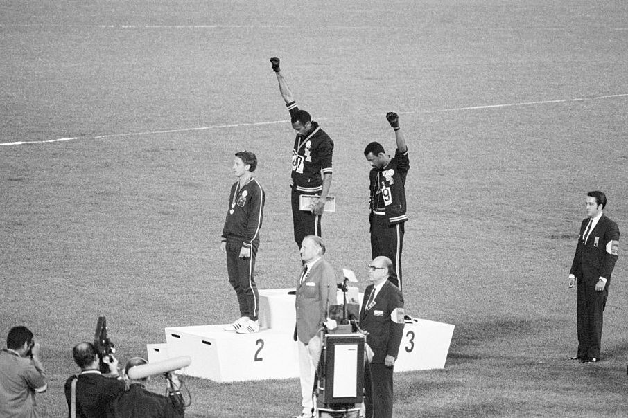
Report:
<svg viewBox="0 0 628 418"><path fill-rule="evenodd" d="M595 284L584 284L584 280L578 280L577 287L578 357L600 358L604 307L609 291L595 291Z"/></svg>

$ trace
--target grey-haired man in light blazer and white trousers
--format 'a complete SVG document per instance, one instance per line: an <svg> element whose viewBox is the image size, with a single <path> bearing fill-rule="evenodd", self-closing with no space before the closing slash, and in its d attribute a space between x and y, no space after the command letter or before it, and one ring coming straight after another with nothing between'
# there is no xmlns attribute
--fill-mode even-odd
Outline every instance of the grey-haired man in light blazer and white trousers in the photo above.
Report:
<svg viewBox="0 0 628 418"><path fill-rule="evenodd" d="M336 303L335 273L331 264L322 259L325 244L320 237L308 235L301 244L304 262L299 275L295 306L297 326L295 341L299 347L302 413L299 418L313 416L312 392L314 375L321 352L321 330L327 317L327 308Z"/></svg>

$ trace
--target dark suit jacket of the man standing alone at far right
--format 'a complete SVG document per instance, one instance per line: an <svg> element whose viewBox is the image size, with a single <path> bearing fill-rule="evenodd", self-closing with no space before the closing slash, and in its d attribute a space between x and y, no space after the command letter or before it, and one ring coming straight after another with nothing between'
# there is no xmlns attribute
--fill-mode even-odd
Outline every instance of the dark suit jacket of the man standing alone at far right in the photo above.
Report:
<svg viewBox="0 0 628 418"><path fill-rule="evenodd" d="M586 244L582 237L590 218L582 221L570 274L584 284L595 285L600 276L607 279L606 289L611 284L611 273L617 261L619 228L617 224L602 214L598 224L588 235Z"/></svg>

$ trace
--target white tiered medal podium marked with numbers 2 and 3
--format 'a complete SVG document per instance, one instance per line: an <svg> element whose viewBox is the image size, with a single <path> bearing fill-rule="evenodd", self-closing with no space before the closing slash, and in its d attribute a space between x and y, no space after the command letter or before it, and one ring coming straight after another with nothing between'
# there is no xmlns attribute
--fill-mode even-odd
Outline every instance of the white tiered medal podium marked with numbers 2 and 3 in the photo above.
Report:
<svg viewBox="0 0 628 418"><path fill-rule="evenodd" d="M148 361L190 356L183 371L217 382L290 379L299 376L295 329L294 289L259 291L260 331L237 334L224 325L166 328L165 344L148 344ZM360 294L360 300L363 295ZM338 291L338 303L342 304ZM454 326L419 319L407 323L395 363L395 372L445 367Z"/></svg>

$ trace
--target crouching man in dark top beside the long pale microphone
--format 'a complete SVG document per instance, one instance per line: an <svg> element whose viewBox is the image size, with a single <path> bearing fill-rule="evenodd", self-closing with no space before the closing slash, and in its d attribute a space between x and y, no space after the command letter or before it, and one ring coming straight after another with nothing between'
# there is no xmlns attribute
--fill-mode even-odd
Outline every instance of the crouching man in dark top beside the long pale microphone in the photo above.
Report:
<svg viewBox="0 0 628 418"><path fill-rule="evenodd" d="M141 357L131 358L124 367L124 377L128 389L109 403L107 417L111 418L177 418L184 416L183 399L179 392L180 382L175 374L167 374L166 393L168 396L148 392L144 385L148 377L130 379L132 367L148 364Z"/></svg>

